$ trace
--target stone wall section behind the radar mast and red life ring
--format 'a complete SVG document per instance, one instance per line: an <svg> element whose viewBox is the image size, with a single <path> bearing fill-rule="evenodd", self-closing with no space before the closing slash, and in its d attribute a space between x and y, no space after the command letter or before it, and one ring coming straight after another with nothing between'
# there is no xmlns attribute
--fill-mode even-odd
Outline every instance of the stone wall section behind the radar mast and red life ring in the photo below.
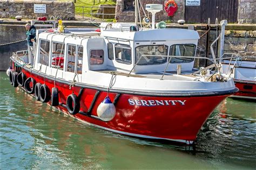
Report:
<svg viewBox="0 0 256 170"><path fill-rule="evenodd" d="M142 3L142 6L145 10L146 4L164 4L167 1L162 1L162 0L145 0L145 1L140 1ZM167 13L165 10L162 10L156 14L156 22L160 22L161 20L171 20L172 22L177 22L179 19L184 19L184 10L185 10L185 1L184 0L176 0L175 1L178 5L178 10L176 13L174 13L173 17L168 17ZM147 11L145 10L146 15ZM144 12L142 8L140 8L140 15L144 16ZM151 13L149 12L149 17L151 18ZM116 19L118 22L134 22L134 11L131 10L125 10L125 5L124 5L124 0L117 0L116 4ZM139 16L138 16L139 17ZM138 18L139 19L139 18Z"/></svg>

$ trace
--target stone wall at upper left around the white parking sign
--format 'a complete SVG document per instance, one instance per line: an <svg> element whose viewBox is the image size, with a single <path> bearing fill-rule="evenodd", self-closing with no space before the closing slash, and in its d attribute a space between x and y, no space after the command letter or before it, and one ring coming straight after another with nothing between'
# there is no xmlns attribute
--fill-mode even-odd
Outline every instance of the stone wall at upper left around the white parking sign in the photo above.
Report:
<svg viewBox="0 0 256 170"><path fill-rule="evenodd" d="M46 4L46 13L34 13L34 4ZM0 0L0 18L36 19L37 17L61 17L62 19L75 19L75 4L62 1L15 1Z"/></svg>

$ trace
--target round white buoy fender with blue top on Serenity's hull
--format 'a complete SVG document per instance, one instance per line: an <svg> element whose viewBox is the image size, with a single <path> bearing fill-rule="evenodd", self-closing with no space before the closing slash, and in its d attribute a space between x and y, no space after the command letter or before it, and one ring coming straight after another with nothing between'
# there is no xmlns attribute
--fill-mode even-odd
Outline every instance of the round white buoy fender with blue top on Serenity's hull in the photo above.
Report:
<svg viewBox="0 0 256 170"><path fill-rule="evenodd" d="M99 104L97 115L103 121L111 121L116 115L116 107L114 107L109 96L106 96L102 103Z"/></svg>

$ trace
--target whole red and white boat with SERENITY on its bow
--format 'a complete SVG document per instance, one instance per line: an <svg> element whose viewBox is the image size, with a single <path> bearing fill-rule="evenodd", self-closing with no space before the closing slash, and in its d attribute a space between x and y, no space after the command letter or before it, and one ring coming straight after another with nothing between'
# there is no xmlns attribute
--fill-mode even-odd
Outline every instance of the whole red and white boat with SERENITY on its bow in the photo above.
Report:
<svg viewBox="0 0 256 170"><path fill-rule="evenodd" d="M190 145L238 91L217 62L195 56L198 39L194 30L127 23L37 30L33 64L26 51L16 52L8 75L12 86L90 125ZM194 69L195 59L211 61L212 69Z"/></svg>

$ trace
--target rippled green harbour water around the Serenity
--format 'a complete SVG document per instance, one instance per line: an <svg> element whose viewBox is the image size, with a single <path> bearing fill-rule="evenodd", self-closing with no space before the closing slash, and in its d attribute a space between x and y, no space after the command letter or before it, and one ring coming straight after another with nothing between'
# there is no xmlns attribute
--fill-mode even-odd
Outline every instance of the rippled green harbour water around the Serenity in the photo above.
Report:
<svg viewBox="0 0 256 170"><path fill-rule="evenodd" d="M126 137L53 111L0 72L1 169L255 169L255 103L228 98L196 147Z"/></svg>

